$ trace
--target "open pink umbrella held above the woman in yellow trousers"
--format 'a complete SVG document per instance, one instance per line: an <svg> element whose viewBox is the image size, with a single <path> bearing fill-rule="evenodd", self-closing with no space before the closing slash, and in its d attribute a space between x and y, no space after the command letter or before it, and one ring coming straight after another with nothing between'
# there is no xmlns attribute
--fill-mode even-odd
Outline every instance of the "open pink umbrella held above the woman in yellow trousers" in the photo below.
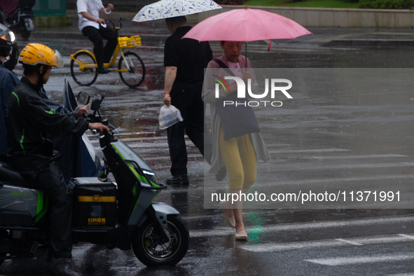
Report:
<svg viewBox="0 0 414 276"><path fill-rule="evenodd" d="M294 20L276 13L246 7L203 20L195 25L183 39L247 42L265 39L294 39L305 34L312 33Z"/></svg>

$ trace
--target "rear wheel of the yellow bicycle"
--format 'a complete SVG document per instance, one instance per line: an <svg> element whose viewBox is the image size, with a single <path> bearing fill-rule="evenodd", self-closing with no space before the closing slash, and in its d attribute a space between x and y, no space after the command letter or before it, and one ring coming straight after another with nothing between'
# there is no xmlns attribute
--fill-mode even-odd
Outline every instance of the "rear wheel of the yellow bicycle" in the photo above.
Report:
<svg viewBox="0 0 414 276"><path fill-rule="evenodd" d="M98 74L95 68L81 68L81 65L95 64L95 59L86 52L79 52L71 60L72 78L81 86L89 86L95 83Z"/></svg>

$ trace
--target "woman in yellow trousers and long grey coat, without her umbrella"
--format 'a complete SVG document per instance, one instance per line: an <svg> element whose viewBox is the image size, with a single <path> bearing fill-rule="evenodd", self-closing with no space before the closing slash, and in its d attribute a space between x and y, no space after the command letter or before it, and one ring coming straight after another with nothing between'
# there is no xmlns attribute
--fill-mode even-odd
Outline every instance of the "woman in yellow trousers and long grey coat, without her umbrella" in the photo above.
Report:
<svg viewBox="0 0 414 276"><path fill-rule="evenodd" d="M253 125L257 124L254 113L249 113L253 112L251 108L246 111L247 114L226 115L226 113L221 112L221 110L226 109L226 107L222 107L223 99L230 99L230 97L237 94L237 83L232 80L225 81L226 86L219 90L220 95L216 97L215 80L217 78L223 80L225 76L228 76L228 73L241 78L244 83L248 83L250 79L251 90L256 91L256 76L251 70L250 61L240 55L242 45L241 41L221 41L224 55L209 62L202 94L203 100L210 104L212 116L213 153L210 172L216 174L220 167L226 165L229 177L229 193L237 195L247 193L255 183L256 158L264 161L270 159L258 125L253 130L250 130L249 126L242 126L242 121L251 121ZM211 76L214 76L214 78ZM242 107L237 109L242 109ZM247 117L240 118L242 115ZM242 129L242 132L233 132L233 130L226 127L225 121L237 125L238 131ZM233 204L229 200L222 201L219 203L219 207L226 216L228 226L236 229L235 239L247 240L247 233L242 219L242 201L237 200Z"/></svg>

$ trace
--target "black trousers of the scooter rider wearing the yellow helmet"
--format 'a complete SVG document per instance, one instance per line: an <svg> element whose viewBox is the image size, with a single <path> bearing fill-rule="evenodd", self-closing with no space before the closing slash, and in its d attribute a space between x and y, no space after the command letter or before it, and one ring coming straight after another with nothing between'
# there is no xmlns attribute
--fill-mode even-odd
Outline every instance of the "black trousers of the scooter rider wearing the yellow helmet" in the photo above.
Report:
<svg viewBox="0 0 414 276"><path fill-rule="evenodd" d="M50 243L55 258L71 258L72 197L59 167L50 161L46 169L20 174L49 198Z"/></svg>

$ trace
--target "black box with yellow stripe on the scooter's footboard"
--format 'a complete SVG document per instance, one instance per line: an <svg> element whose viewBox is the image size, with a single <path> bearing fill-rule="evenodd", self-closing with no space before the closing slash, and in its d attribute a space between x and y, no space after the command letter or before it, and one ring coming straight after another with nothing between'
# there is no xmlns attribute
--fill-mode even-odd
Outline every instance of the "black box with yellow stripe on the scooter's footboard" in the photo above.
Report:
<svg viewBox="0 0 414 276"><path fill-rule="evenodd" d="M74 190L73 226L115 226L117 212L116 185L97 177L71 179Z"/></svg>

